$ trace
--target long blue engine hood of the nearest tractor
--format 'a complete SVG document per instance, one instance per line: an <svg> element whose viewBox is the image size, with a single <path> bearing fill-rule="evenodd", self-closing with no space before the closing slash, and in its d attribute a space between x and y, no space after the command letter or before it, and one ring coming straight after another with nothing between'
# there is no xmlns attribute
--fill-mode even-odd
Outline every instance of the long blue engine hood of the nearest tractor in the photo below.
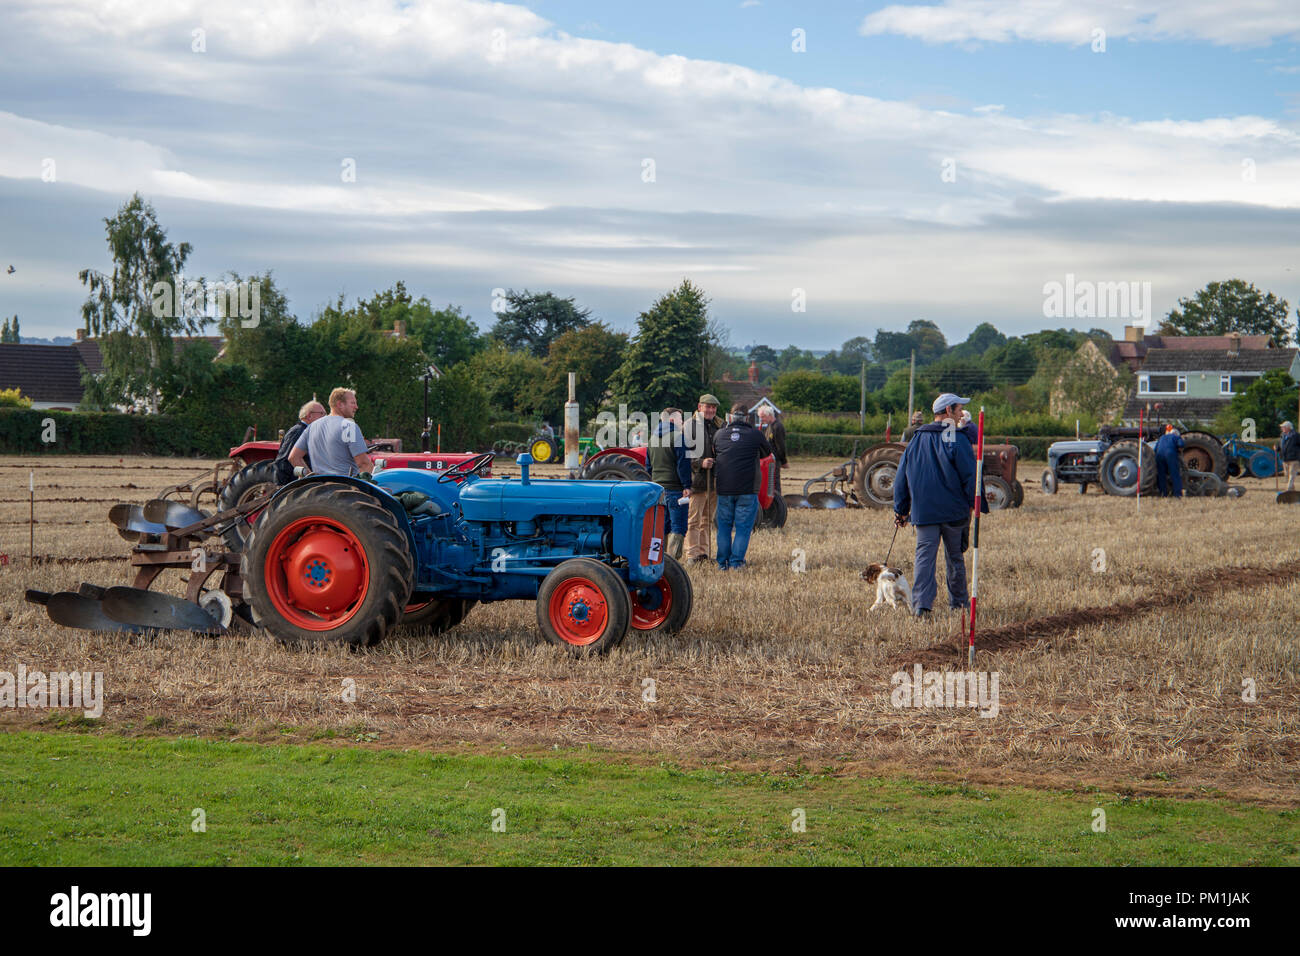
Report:
<svg viewBox="0 0 1300 956"><path fill-rule="evenodd" d="M538 515L641 515L659 503L663 488L653 481L573 481L569 479L482 479L460 488L460 512L468 522L526 522Z"/></svg>

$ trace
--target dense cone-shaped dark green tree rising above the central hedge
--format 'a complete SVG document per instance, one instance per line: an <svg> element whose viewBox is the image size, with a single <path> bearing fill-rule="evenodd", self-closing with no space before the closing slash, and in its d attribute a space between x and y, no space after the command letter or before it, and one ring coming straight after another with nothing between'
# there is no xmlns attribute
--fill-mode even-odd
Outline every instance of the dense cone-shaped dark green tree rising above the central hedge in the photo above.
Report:
<svg viewBox="0 0 1300 956"><path fill-rule="evenodd" d="M647 414L670 405L693 408L712 386L710 356L716 347L708 299L682 280L637 317L636 336L610 376L610 389L629 408Z"/></svg>

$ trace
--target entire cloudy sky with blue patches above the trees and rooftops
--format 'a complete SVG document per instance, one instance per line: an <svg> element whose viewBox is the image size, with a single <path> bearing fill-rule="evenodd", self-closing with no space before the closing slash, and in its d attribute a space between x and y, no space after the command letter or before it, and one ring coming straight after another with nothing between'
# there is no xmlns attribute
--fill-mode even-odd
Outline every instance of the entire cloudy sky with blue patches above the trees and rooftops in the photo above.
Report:
<svg viewBox="0 0 1300 956"><path fill-rule="evenodd" d="M1067 273L1300 302L1295 0L807 7L4 0L0 313L72 334L136 190L304 319L404 280L629 329L690 277L734 345L828 349L1118 334L1044 319Z"/></svg>

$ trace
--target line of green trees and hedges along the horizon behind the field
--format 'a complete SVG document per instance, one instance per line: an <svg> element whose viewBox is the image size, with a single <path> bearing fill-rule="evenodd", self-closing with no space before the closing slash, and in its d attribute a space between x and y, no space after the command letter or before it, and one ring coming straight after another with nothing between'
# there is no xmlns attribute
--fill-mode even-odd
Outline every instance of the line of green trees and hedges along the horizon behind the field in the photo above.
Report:
<svg viewBox="0 0 1300 956"><path fill-rule="evenodd" d="M272 436L292 423L304 401L324 398L335 385L356 389L367 436L415 442L430 364L430 418L442 424L443 446L458 450L490 444L494 429L558 423L571 371L577 372L577 399L588 418L611 402L642 411L689 408L702 392L725 390L725 376L742 380L750 363L760 381L774 386L774 401L783 408L855 412L864 380L868 414L905 414L913 355L918 407L936 392L957 392L979 395L1008 415L1041 415L1063 382L1076 393L1082 414L1095 418L1100 408L1093 406L1108 398L1096 369L1071 373L1084 342L1096 342L1102 352L1109 349L1102 329L1006 336L982 323L965 341L949 345L935 323L915 320L905 332L879 329L819 356L793 345L737 350L690 280L650 303L630 334L593 317L573 298L528 289L498 295L490 324L480 329L462 307L437 307L402 281L352 304L341 295L304 321L269 271L222 280L256 284L256 321L224 307L220 298L204 311L182 308L177 294L170 299L176 304L160 310L153 294L159 284L178 289L205 282L185 276L191 246L173 243L138 194L104 225L112 271L79 273L88 291L83 323L100 339L104 359L101 373L84 377L84 407L182 415L212 447L233 441L250 424ZM1180 300L1160 332L1238 330L1287 345L1287 315L1286 300L1230 280ZM199 338L213 326L222 341L220 358ZM395 334L398 329L404 334ZM1127 389L1122 373L1115 375L1112 386ZM729 395L719 397L729 402Z"/></svg>

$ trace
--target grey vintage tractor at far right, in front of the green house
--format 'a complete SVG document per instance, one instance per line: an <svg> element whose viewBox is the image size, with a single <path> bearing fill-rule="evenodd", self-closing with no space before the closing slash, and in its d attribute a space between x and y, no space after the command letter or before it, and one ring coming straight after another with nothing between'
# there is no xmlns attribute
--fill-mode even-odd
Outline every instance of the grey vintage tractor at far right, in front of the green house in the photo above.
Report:
<svg viewBox="0 0 1300 956"><path fill-rule="evenodd" d="M1138 494L1139 464L1141 493L1156 490L1154 444L1165 433L1161 423L1136 425L1102 425L1096 438L1058 441L1048 447L1048 470L1043 472L1043 490L1056 494L1062 484L1079 485L1084 494L1097 484L1106 494ZM1223 444L1208 432L1184 431L1183 466L1190 494L1219 494L1226 489L1227 455Z"/></svg>

